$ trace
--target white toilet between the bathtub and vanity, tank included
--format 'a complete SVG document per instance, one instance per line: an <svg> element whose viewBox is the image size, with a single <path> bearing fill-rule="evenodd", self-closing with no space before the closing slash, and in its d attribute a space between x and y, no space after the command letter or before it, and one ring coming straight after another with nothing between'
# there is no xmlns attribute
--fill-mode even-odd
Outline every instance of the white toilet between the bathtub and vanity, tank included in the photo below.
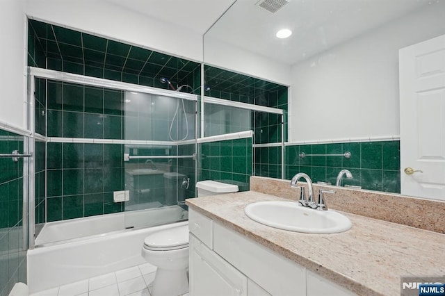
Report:
<svg viewBox="0 0 445 296"><path fill-rule="evenodd" d="M216 181L196 183L197 196L237 192L238 186ZM142 248L145 261L157 267L153 296L177 296L188 293L188 225L150 234Z"/></svg>

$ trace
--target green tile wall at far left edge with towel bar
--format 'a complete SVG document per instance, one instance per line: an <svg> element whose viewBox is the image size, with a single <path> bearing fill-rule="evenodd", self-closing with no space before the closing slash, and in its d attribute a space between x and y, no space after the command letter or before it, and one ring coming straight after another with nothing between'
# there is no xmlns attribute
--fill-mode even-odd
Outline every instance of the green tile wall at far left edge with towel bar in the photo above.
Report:
<svg viewBox="0 0 445 296"><path fill-rule="evenodd" d="M23 153L23 137L0 130L0 153ZM0 158L0 295L15 283L26 283L26 249L23 248L23 158L17 163Z"/></svg>

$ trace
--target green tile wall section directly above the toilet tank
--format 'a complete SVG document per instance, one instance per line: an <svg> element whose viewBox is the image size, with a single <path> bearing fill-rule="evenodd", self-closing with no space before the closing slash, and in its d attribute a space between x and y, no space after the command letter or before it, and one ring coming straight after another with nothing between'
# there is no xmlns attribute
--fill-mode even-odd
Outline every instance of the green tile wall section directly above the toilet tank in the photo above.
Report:
<svg viewBox="0 0 445 296"><path fill-rule="evenodd" d="M252 138L202 143L200 151L200 180L249 183L252 174Z"/></svg>

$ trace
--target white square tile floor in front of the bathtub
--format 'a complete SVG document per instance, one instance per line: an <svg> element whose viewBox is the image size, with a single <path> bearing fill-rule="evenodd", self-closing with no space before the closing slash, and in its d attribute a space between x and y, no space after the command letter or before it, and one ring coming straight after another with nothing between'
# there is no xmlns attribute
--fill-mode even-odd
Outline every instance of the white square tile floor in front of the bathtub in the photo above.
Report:
<svg viewBox="0 0 445 296"><path fill-rule="evenodd" d="M156 267L145 263L30 296L151 296ZM182 296L188 296L182 295Z"/></svg>

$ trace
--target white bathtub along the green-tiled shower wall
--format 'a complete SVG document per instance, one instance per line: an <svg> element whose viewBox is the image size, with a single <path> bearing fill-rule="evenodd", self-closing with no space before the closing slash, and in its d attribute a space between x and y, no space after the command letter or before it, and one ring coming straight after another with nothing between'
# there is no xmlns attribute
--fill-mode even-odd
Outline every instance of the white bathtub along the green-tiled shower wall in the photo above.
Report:
<svg viewBox="0 0 445 296"><path fill-rule="evenodd" d="M144 238L188 224L165 224L186 218L187 211L181 207L165 206L49 222L35 239L35 249L27 254L30 293L143 264Z"/></svg>

